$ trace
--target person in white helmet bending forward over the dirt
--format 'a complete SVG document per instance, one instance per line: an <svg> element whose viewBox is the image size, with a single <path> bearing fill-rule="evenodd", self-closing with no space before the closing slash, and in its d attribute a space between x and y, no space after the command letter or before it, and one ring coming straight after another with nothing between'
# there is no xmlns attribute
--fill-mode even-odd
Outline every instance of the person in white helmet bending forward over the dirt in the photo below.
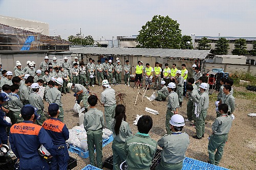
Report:
<svg viewBox="0 0 256 170"><path fill-rule="evenodd" d="M84 106L84 109L88 109L88 90L81 84L68 83L68 88L71 89L75 94L76 102L80 104L81 100Z"/></svg>

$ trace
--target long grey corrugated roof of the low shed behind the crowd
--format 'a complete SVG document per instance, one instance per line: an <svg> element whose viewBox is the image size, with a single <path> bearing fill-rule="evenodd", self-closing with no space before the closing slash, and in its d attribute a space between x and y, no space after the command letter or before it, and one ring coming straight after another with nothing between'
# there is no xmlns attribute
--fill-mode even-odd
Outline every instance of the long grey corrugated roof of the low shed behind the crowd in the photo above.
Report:
<svg viewBox="0 0 256 170"><path fill-rule="evenodd" d="M177 50L163 48L104 48L83 47L71 50L73 53L116 55L116 56L148 56L148 57L172 57L172 58L194 58L205 59L209 50Z"/></svg>

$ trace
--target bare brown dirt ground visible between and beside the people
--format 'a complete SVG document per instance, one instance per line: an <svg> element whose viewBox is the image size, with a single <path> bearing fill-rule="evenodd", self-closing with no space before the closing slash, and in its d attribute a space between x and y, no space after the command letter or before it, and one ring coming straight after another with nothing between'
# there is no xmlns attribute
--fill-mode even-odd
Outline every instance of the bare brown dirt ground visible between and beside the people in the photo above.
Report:
<svg viewBox="0 0 256 170"><path fill-rule="evenodd" d="M133 85L133 83L132 83ZM165 134L165 113L166 102L148 101L146 98L142 101L143 91L140 88L140 94L138 95L137 105L134 106L137 89L131 86L117 85L112 86L116 94L125 93L124 105L126 106L126 121L129 123L132 132L137 132L137 127L133 125L136 114L150 115L153 118L153 128L150 131L150 135L156 141L159 140ZM102 92L102 87L95 86L91 90L99 97ZM247 91L244 87L234 87L234 91ZM251 92L251 91L247 91ZM153 90L146 91L146 96L151 96ZM255 92L251 92L255 93ZM196 133L194 127L190 127L189 123L186 123L183 132L186 132L190 137L190 144L186 152L186 156L201 161L208 160L208 139L207 134L211 132L211 125L216 118L215 101L217 99L217 92L214 92L210 96L210 104L206 117L205 124L205 136L202 140L192 138ZM248 113L255 113L256 100L246 100L243 94L236 98L236 110L234 115L236 118L233 120L231 130L228 135L228 141L224 148L224 155L220 162L220 166L230 169L256 169L256 117L247 116ZM75 97L73 93L63 94L62 96L63 110L65 113L64 122L69 129L78 125L78 114L73 112L73 106L75 103ZM186 117L186 103L187 99L184 99L182 107L179 109L179 113ZM82 105L82 104L81 104ZM104 108L97 104L99 110L104 111ZM145 111L145 107L155 109L159 112L159 115L153 115ZM103 148L103 161L112 155L111 149L112 143ZM74 169L82 169L89 164L89 158L83 159L77 154L69 153L70 156L77 159L77 167ZM104 168L105 169L105 168Z"/></svg>

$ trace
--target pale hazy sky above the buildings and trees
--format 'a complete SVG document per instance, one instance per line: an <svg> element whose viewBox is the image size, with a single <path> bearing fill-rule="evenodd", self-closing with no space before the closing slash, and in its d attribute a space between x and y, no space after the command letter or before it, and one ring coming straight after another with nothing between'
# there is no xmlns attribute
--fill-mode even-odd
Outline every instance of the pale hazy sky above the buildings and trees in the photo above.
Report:
<svg viewBox="0 0 256 170"><path fill-rule="evenodd" d="M177 20L182 35L256 37L255 7L255 0L0 0L0 15L47 22L62 38L80 28L95 40L137 35L154 15Z"/></svg>

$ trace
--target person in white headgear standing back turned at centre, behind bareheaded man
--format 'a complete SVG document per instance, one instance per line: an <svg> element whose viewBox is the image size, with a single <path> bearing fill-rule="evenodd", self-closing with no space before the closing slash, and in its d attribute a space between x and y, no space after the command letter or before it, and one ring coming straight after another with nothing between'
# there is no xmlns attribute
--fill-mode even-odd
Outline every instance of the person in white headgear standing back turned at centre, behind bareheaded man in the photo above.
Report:
<svg viewBox="0 0 256 170"><path fill-rule="evenodd" d="M102 81L103 92L101 93L101 103L104 106L106 128L111 129L111 119L115 116L116 92L109 85L108 80Z"/></svg>

